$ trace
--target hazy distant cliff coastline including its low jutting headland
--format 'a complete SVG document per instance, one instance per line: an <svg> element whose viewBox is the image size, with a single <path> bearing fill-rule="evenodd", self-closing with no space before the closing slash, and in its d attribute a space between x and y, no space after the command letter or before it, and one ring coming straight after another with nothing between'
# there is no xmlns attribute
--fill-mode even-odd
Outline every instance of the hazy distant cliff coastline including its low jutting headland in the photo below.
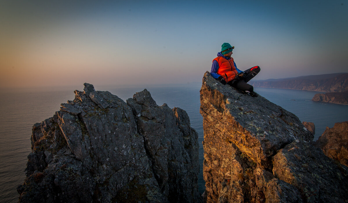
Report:
<svg viewBox="0 0 348 203"><path fill-rule="evenodd" d="M318 93L313 97L316 102L348 104L348 73L307 75L292 78L268 79L249 82L254 87L282 88L329 92Z"/></svg>

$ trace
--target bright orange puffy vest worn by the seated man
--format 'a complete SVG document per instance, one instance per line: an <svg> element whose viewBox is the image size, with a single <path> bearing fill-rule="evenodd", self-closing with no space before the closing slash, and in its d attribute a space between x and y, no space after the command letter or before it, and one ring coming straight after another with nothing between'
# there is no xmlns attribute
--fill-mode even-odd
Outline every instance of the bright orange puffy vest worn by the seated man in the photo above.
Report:
<svg viewBox="0 0 348 203"><path fill-rule="evenodd" d="M217 74L221 75L226 82L235 79L236 74L238 74L238 71L234 66L233 58L227 60L223 57L216 57L214 60L217 61L217 63L219 63L219 68L216 72Z"/></svg>

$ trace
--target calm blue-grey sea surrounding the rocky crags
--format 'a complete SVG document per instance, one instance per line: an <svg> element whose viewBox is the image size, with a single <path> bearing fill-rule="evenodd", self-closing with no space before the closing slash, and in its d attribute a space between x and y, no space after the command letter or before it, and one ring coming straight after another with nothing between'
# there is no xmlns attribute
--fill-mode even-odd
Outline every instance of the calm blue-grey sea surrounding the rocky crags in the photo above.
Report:
<svg viewBox="0 0 348 203"><path fill-rule="evenodd" d="M80 90L82 90L81 87ZM107 90L123 100L133 97L144 87L116 88L95 87ZM180 107L190 116L191 127L199 134L200 176L199 190L204 191L203 164L203 118L199 113L200 84L172 87L146 87L158 105L167 103L169 107ZM62 89L62 88L60 88ZM31 152L31 129L34 123L53 116L61 103L74 99L74 89L68 90L13 90L2 91L0 97L0 202L17 202L17 185L25 179L27 155ZM255 88L263 97L297 115L301 121L314 122L315 140L326 126L335 122L348 121L348 105L325 104L311 101L317 92L272 88ZM261 104L262 105L262 104Z"/></svg>

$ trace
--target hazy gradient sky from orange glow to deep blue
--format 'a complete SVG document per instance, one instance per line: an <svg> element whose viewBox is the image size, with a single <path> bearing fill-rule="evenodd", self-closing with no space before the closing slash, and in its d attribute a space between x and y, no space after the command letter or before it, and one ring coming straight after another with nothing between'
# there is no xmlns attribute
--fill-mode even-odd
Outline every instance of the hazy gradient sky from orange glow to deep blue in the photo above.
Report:
<svg viewBox="0 0 348 203"><path fill-rule="evenodd" d="M224 42L259 80L348 72L347 6L0 0L0 87L201 82Z"/></svg>

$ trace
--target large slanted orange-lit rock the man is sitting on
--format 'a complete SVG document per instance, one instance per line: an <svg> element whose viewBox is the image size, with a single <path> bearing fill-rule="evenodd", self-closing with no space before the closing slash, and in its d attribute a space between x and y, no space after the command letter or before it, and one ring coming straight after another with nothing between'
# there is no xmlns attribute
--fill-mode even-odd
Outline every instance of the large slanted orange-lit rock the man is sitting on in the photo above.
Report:
<svg viewBox="0 0 348 203"><path fill-rule="evenodd" d="M200 103L207 202L348 201L348 168L312 145L294 114L209 72Z"/></svg>

